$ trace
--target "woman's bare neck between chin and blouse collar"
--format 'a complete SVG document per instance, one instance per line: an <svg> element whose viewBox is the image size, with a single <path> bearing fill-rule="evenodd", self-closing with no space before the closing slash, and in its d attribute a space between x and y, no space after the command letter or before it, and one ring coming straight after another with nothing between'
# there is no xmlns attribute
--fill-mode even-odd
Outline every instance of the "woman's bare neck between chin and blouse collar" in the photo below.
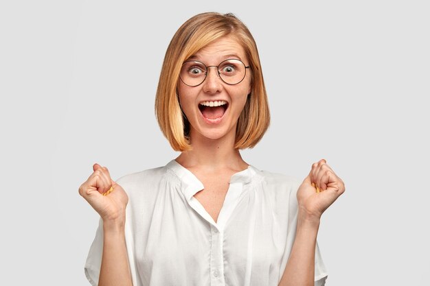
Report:
<svg viewBox="0 0 430 286"><path fill-rule="evenodd" d="M182 152L176 159L183 167L203 167L212 170L227 168L236 171L248 167L239 150L234 149L236 134L229 134L220 139L208 139L191 130L190 135L192 150Z"/></svg>

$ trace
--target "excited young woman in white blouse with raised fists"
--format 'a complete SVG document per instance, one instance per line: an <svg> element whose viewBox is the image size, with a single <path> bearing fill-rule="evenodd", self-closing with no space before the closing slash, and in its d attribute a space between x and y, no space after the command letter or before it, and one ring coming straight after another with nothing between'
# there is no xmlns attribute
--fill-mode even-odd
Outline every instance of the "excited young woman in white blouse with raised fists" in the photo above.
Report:
<svg viewBox="0 0 430 286"><path fill-rule="evenodd" d="M181 154L114 182L106 167L80 195L100 214L92 285L324 285L321 214L345 190L322 159L301 182L239 150L269 126L256 43L232 14L186 21L166 51L155 109Z"/></svg>

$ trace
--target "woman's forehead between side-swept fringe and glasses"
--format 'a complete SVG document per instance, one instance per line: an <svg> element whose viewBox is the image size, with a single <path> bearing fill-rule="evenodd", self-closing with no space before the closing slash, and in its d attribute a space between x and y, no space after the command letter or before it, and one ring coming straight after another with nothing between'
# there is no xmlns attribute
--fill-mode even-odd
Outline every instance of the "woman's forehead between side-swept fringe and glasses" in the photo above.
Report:
<svg viewBox="0 0 430 286"><path fill-rule="evenodd" d="M218 64L219 61L226 58L238 58L242 62L247 61L245 49L243 49L234 36L225 36L214 40L209 45L197 51L189 60L200 60L202 62L215 61L214 64Z"/></svg>

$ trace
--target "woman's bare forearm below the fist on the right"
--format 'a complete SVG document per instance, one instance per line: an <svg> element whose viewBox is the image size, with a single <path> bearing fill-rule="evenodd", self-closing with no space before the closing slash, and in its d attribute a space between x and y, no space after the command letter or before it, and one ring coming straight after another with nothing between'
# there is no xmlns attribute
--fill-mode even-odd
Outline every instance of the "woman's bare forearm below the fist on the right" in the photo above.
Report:
<svg viewBox="0 0 430 286"><path fill-rule="evenodd" d="M279 286L315 284L315 247L318 228L319 219L310 220L299 216L295 241Z"/></svg>

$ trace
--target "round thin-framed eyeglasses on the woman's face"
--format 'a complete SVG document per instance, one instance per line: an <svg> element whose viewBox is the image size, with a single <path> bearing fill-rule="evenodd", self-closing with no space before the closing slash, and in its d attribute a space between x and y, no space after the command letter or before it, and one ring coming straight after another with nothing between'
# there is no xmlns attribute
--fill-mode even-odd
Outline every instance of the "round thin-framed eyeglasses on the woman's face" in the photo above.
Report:
<svg viewBox="0 0 430 286"><path fill-rule="evenodd" d="M249 69L249 66L246 67L242 61L237 59L223 60L218 66L209 67L197 60L187 60L182 64L179 77L188 86L199 86L205 81L210 67L216 67L220 79L230 85L242 82Z"/></svg>

